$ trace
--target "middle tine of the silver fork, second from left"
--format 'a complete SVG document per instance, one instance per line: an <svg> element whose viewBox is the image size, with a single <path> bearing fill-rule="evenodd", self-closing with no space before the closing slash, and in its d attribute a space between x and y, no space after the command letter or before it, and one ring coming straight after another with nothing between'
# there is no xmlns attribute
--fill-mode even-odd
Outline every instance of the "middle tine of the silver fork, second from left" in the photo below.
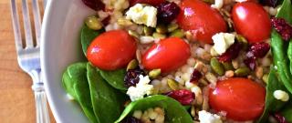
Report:
<svg viewBox="0 0 292 123"><path fill-rule="evenodd" d="M22 0L22 12L24 18L25 34L26 34L26 48L31 48L34 46L33 36L31 32L30 17L27 7L27 1Z"/></svg>

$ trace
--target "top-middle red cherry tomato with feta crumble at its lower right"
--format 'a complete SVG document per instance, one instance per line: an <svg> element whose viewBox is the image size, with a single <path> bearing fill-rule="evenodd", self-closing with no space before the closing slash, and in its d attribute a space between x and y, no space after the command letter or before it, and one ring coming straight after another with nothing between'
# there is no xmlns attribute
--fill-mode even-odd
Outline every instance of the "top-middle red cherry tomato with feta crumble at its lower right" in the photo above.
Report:
<svg viewBox="0 0 292 123"><path fill-rule="evenodd" d="M226 32L224 18L217 10L201 0L183 0L178 24L184 30L191 30L195 40L212 44L212 36L219 32Z"/></svg>

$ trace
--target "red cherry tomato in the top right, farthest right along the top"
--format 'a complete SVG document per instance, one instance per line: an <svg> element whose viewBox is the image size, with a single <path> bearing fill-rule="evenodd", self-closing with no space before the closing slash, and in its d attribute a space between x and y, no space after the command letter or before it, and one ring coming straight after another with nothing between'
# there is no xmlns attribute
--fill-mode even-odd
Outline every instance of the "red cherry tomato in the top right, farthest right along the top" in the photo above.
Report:
<svg viewBox="0 0 292 123"><path fill-rule="evenodd" d="M237 3L232 10L235 30L250 43L262 42L271 33L271 22L262 5L255 2Z"/></svg>

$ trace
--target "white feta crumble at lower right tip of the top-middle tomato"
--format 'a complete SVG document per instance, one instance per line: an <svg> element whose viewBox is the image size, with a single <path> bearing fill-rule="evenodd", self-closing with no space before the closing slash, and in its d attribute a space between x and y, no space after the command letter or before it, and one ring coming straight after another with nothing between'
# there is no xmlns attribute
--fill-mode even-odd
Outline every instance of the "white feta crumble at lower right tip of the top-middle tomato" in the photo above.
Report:
<svg viewBox="0 0 292 123"><path fill-rule="evenodd" d="M212 36L214 42L214 51L218 55L222 55L228 49L229 46L232 46L235 43L235 35L229 33L218 33Z"/></svg>

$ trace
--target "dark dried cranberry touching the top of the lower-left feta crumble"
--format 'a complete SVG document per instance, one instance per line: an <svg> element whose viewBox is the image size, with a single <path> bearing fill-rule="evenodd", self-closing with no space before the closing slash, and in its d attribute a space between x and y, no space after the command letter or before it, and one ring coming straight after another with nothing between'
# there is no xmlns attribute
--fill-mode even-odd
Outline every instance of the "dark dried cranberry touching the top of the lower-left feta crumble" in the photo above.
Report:
<svg viewBox="0 0 292 123"><path fill-rule="evenodd" d="M138 69L129 69L127 71L126 76L124 77L124 84L126 87L133 87L136 86L136 84L139 82L140 75L145 75L145 72L141 70L140 68Z"/></svg>

